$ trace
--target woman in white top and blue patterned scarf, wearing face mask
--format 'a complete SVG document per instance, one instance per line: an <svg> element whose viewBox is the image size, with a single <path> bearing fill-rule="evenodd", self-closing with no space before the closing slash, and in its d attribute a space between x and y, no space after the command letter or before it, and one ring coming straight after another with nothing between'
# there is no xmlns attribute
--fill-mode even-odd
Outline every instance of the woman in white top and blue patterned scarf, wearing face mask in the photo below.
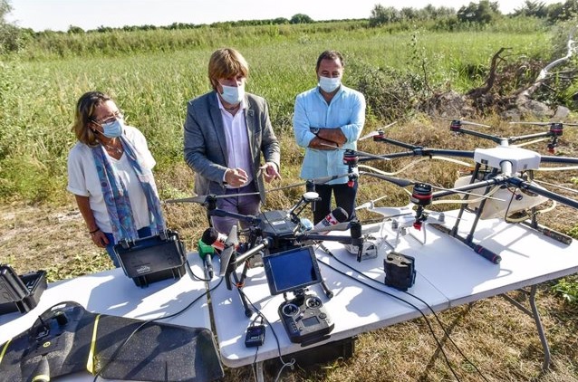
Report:
<svg viewBox="0 0 578 382"><path fill-rule="evenodd" d="M165 230L155 160L139 129L125 125L111 97L89 91L76 104L72 131L78 142L68 156L68 191L92 243L106 248L120 267L114 244Z"/></svg>

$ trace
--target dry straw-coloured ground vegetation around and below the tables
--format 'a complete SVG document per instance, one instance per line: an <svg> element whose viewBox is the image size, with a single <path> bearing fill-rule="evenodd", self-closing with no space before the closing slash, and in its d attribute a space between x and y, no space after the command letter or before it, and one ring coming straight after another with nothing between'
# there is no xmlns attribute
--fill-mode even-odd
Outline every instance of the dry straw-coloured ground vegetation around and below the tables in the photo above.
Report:
<svg viewBox="0 0 578 382"><path fill-rule="evenodd" d="M480 122L480 121L478 121ZM493 144L467 136L453 136L448 132L446 120L423 120L388 130L391 138L409 141L431 148L473 149L492 147ZM528 127L510 126L498 120L483 121L496 126L486 132L510 137L529 131ZM365 132L375 129L366 127ZM536 131L535 128L531 128ZM275 186L297 182L300 150L295 147L293 137L282 137L284 149L283 181ZM578 156L578 131L564 130L559 154ZM545 144L532 148L546 154ZM359 148L372 153L397 151L396 148L366 140ZM287 158L287 159L285 159ZM290 158L290 159L289 159ZM411 159L400 159L390 163L370 164L386 170L405 166ZM409 168L400 177L434 182L439 186L451 186L458 167L446 162L421 162ZM573 173L544 174L557 184L571 186ZM188 192L191 174L185 165L178 165L170 175L158 178L161 195L168 190ZM361 177L359 202L387 195L382 205L405 205L407 197L396 186L373 178ZM173 192L171 191L171 192ZM290 205L303 192L295 187L283 193L270 194L267 208L277 209ZM186 239L189 249L206 227L205 212L199 205L165 205L171 228L177 229ZM368 218L371 216L361 216ZM575 211L558 207L544 216L544 223L562 232L568 232L576 224ZM99 272L111 267L108 256L92 246L82 217L72 198L61 206L48 205L0 205L0 258L10 263L17 272L45 269L52 281ZM547 255L544 253L544 255ZM478 301L439 314L451 339L490 381L576 381L578 380L578 309L567 305L551 291L553 284L539 286L538 307L542 314L544 329L552 349L550 371L541 373L543 351L537 336L535 322L501 297ZM516 293L510 294L524 300ZM429 320L434 317L429 315ZM479 374L462 358L455 347L443 338L438 325L432 323L438 339L453 368L462 381L481 380ZM265 363L265 379L275 379L279 363ZM225 380L245 381L253 378L251 368L226 369ZM453 380L448 366L430 333L425 320L411 320L390 328L362 334L356 345L355 354L349 359L314 367L284 370L286 381L441 381Z"/></svg>

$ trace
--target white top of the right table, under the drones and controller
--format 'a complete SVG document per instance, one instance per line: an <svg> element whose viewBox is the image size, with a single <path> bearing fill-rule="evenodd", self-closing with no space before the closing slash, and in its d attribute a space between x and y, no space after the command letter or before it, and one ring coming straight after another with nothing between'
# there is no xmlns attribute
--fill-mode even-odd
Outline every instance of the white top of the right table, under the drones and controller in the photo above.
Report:
<svg viewBox="0 0 578 382"><path fill-rule="evenodd" d="M452 215L456 215L456 212L446 214L445 225L448 227L453 226L455 221ZM402 223L403 219L412 218L411 216L402 217L400 218ZM438 223L435 219L429 221ZM472 222L473 216L467 214L467 220L460 225L460 235L467 235L469 224ZM395 246L396 252L415 258L417 276L415 284L408 291L427 301L434 310L445 310L451 306L477 301L505 291L578 272L578 242L573 241L571 245L561 244L521 224L506 224L498 219L478 223L474 236L475 243L499 253L502 256L500 264L490 263L466 244L434 228L426 228L425 244L420 243L423 241L423 231L418 232L411 227L408 228L409 231L413 231L419 240L406 234L400 235L399 240L396 241L396 233L391 230L389 222L383 224L381 234L385 236L388 243ZM337 259L379 282L370 282L371 285L399 296L416 305L424 313L429 313L429 309L420 301L383 284L383 260L391 251L387 244L380 246L377 258L363 260L361 263L355 260L354 254L345 251L342 244L330 241L325 241L324 244ZM313 294L322 299L335 323L335 328L331 332L330 339L315 346L346 339L361 332L379 329L421 315L409 304L373 291L335 272L324 263L329 263L332 267L361 278L356 272L347 269L320 249L317 249L316 255L320 260L323 278L333 291L334 297L329 300L320 285L313 285L310 289ZM241 268L238 269L239 272L240 270ZM290 342L277 313L283 296L272 297L270 295L264 269L262 267L252 269L248 275L243 291L249 300L265 314L267 320L272 322L280 342L281 353L289 354L307 349ZM214 279L212 285L216 283L217 278ZM252 319L246 318L237 291L235 288L233 291L228 291L223 282L217 290L211 293L211 298L223 363L232 368L253 363L255 348L247 349L244 343L246 327ZM258 349L256 360L275 358L278 355L275 337L271 329L267 327L265 344Z"/></svg>

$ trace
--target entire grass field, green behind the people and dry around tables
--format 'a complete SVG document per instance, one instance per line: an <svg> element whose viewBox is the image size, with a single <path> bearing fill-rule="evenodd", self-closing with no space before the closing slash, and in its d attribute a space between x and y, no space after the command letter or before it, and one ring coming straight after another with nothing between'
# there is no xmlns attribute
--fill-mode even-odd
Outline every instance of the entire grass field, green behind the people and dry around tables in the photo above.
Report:
<svg viewBox="0 0 578 382"><path fill-rule="evenodd" d="M178 41L188 41L185 32L178 33L182 35L169 35ZM323 50L337 49L345 55L348 72L344 82L352 87L355 83L348 79L357 78L355 74L366 69L419 72L421 64L427 63L431 86L466 91L483 82L484 68L500 47L512 48L509 56L512 60L522 56L549 59L553 34L538 27L532 28L531 33L515 28L459 33L419 29L391 33L385 29L345 27L339 30L327 27L324 31L322 26L284 32L284 28L272 27L266 37L262 33L207 30L206 34L198 34L203 37L201 43L190 46L182 43L164 52L152 47L147 52L132 53L115 53L113 48L101 53L87 49L86 53L59 57L38 51L35 57L28 54L0 62L0 263L10 263L20 273L46 269L50 281L111 267L106 254L90 243L82 217L64 190L66 156L74 143L69 128L73 107L85 91L110 92L128 122L148 138L158 161L155 173L161 199L189 196L192 173L182 159L186 102L208 91L210 53L221 46L236 47L251 66L247 90L264 96L270 103L283 150L284 179L275 186L282 186L298 180L302 158L291 131L294 96L314 86L314 62ZM130 38L139 36L133 34ZM170 40L154 36L159 38L158 46L165 46ZM112 46L114 39L122 38L123 34L111 36ZM77 45L86 49L84 44L91 43L87 39ZM506 136L521 131L513 130L496 117L478 121ZM369 110L364 132L389 122ZM567 130L560 153L576 157L578 134L576 130ZM390 134L435 148L488 146L487 142L474 138L451 136L448 121L420 115L399 123ZM367 141L360 144L360 149L373 153L394 150ZM391 170L407 164L409 161L399 160L379 166ZM451 186L457 170L452 165L431 162L411 167L402 176ZM558 173L553 180L573 186L571 177L575 177L575 172ZM294 188L271 194L266 208L287 207L301 192ZM388 196L383 205L407 204L407 196L399 188L376 180L361 180L361 203L383 195ZM169 226L181 233L188 247L206 227L204 212L198 205L165 205L165 213ZM546 219L548 225L565 233L576 232L575 214L567 208L557 208ZM538 297L553 351L553 367L545 375L540 373L542 350L534 322L501 298L448 310L440 318L459 349L488 380L578 380L578 311L551 291L553 285L541 285ZM440 331L437 335L442 337ZM458 351L447 341L444 344L460 380L480 380ZM275 378L276 372L276 365L269 365L267 380ZM353 358L319 368L284 371L283 376L287 381L453 379L424 320L411 320L361 335ZM250 378L250 368L226 370L226 380Z"/></svg>

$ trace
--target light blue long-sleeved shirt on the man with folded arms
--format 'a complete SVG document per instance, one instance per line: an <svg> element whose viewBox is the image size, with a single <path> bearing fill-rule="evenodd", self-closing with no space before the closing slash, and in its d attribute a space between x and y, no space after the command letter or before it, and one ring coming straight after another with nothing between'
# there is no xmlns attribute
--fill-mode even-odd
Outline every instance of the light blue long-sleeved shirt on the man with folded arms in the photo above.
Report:
<svg viewBox="0 0 578 382"><path fill-rule="evenodd" d="M365 97L359 91L342 85L329 105L323 99L319 87L299 94L295 99L293 129L297 144L305 148L301 177L313 179L347 174L348 171L347 165L343 165L342 149L308 148L309 142L315 138L309 128L341 128L347 138L342 148L357 149L356 141L361 135L364 122ZM347 177L342 177L328 184L337 185L347 181Z"/></svg>

